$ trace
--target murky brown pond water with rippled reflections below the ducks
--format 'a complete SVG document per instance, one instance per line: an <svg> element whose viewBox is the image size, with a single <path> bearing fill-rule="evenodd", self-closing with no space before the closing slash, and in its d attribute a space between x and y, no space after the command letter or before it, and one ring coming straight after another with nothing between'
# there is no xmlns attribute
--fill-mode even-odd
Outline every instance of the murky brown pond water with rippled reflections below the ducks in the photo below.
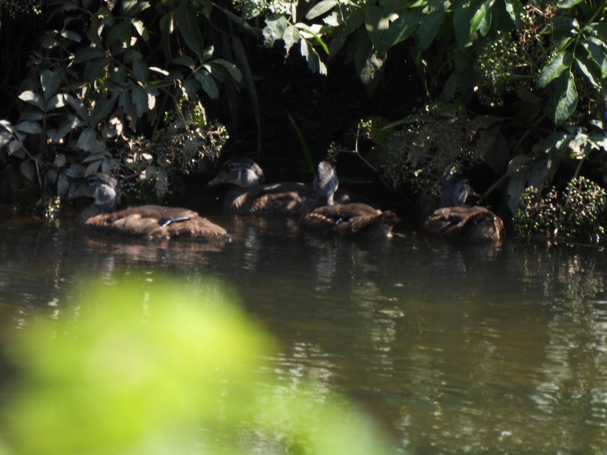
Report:
<svg viewBox="0 0 607 455"><path fill-rule="evenodd" d="M398 227L392 240L353 242L208 217L234 241L90 237L71 214L0 214L2 331L66 314L87 278L218 278L279 340L283 379L346 394L399 451L607 450L601 249L460 245Z"/></svg>

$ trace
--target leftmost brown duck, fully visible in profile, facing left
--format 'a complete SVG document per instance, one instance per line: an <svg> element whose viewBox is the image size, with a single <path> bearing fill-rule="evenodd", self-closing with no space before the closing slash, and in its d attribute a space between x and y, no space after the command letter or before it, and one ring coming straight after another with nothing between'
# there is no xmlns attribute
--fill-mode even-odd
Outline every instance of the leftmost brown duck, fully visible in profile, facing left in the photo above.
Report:
<svg viewBox="0 0 607 455"><path fill-rule="evenodd" d="M138 206L116 211L120 203L120 186L109 174L91 174L70 194L92 197L95 201L78 216L85 231L137 235L146 238L222 237L227 232L196 212L180 207Z"/></svg>

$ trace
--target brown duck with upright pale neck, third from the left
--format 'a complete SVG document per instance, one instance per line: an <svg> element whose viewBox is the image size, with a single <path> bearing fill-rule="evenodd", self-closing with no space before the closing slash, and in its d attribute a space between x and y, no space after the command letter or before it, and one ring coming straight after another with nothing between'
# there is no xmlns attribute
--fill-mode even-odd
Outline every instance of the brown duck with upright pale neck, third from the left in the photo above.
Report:
<svg viewBox="0 0 607 455"><path fill-rule="evenodd" d="M399 221L394 212L382 212L364 203L336 204L333 195L338 185L333 165L321 161L313 183L317 198L302 216L302 227L320 234L392 237L392 227Z"/></svg>

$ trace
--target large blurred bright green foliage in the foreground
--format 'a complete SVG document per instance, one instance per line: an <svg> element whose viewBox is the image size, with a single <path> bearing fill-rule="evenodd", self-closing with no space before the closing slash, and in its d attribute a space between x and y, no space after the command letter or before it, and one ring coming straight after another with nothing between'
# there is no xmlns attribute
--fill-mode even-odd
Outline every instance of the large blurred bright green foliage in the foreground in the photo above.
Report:
<svg viewBox="0 0 607 455"><path fill-rule="evenodd" d="M7 453L389 452L344 399L282 388L273 342L217 287L87 283L71 312L16 331Z"/></svg>

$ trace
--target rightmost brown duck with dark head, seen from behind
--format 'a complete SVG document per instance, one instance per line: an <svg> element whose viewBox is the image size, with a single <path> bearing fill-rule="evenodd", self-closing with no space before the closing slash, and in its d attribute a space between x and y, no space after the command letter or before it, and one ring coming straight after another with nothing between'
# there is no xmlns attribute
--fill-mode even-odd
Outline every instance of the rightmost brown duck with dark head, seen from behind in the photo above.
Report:
<svg viewBox="0 0 607 455"><path fill-rule="evenodd" d="M466 204L469 197L475 196L466 177L447 176L441 192L441 208L426 218L424 231L470 242L500 240L504 235L504 222L486 207Z"/></svg>

